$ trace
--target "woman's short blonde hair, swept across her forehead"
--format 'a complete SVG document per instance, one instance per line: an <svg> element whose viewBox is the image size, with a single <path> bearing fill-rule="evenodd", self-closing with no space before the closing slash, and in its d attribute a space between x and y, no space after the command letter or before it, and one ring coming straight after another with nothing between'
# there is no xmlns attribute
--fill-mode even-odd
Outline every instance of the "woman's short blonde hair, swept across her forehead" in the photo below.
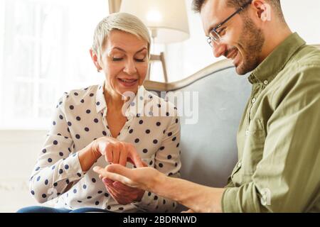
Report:
<svg viewBox="0 0 320 227"><path fill-rule="evenodd" d="M137 16L129 13L112 13L103 18L95 28L92 50L97 54L99 61L101 60L103 45L105 45L112 30L124 31L142 38L148 43L148 55L150 55L151 38L144 23Z"/></svg>

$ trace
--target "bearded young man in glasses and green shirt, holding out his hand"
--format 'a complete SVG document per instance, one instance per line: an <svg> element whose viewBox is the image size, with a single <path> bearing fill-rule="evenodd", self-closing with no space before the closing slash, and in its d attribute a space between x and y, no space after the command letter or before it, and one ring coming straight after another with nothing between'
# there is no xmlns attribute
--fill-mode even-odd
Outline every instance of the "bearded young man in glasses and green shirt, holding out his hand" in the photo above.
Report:
<svg viewBox="0 0 320 227"><path fill-rule="evenodd" d="M193 0L215 57L251 72L228 185L205 187L151 168L96 167L102 177L195 212L320 212L320 51L284 21L279 0Z"/></svg>

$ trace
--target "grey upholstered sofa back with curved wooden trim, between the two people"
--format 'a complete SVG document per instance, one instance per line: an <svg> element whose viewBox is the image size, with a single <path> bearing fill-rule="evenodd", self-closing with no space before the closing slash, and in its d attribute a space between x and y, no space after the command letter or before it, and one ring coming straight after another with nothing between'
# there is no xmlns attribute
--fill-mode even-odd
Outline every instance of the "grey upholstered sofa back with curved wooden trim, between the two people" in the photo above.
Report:
<svg viewBox="0 0 320 227"><path fill-rule="evenodd" d="M248 74L239 76L228 60L169 84L146 81L150 91L198 92L198 123L181 117L181 177L224 187L238 159L236 134L250 96Z"/></svg>

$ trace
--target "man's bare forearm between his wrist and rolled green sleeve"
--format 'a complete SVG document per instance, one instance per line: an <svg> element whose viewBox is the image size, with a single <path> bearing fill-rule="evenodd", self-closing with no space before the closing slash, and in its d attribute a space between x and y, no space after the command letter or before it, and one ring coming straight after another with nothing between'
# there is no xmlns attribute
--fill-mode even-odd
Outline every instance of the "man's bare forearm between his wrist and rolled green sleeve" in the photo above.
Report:
<svg viewBox="0 0 320 227"><path fill-rule="evenodd" d="M152 186L159 196L178 201L195 212L222 212L221 198L225 189L206 187L184 179L162 175Z"/></svg>

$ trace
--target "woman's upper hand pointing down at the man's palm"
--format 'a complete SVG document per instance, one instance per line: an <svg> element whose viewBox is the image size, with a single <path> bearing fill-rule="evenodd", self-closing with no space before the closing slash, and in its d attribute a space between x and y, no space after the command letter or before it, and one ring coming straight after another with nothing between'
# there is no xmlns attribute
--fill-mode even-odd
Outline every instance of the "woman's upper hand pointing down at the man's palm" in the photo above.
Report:
<svg viewBox="0 0 320 227"><path fill-rule="evenodd" d="M112 164L126 166L127 162L131 162L137 167L144 166L136 148L131 143L110 137L102 137L93 142L92 150L94 153L105 155L105 160Z"/></svg>

